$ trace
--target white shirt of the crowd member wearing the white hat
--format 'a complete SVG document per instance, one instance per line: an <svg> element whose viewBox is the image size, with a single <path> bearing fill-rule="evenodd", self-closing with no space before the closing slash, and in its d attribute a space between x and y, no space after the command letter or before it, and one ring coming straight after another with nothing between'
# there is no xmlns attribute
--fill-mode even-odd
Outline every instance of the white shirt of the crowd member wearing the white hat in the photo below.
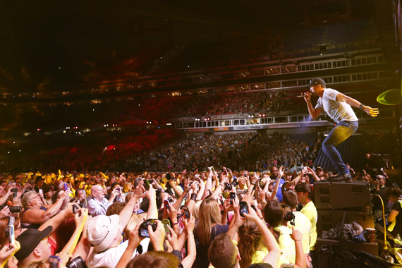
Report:
<svg viewBox="0 0 402 268"><path fill-rule="evenodd" d="M147 252L148 250L148 245L150 244L150 238L145 238L144 240L141 241L140 245L142 246L142 253ZM109 250L106 250L105 252L102 253L95 253L92 252L90 257L87 258L87 267L88 268L97 268L97 267L108 267L108 268L114 268L116 267L118 261L120 260L121 256L123 256L123 253L126 251L126 248L128 246L128 240L124 241L120 245L118 245L116 248L109 248ZM138 253L138 248L134 250L133 257L135 255L140 254Z"/></svg>

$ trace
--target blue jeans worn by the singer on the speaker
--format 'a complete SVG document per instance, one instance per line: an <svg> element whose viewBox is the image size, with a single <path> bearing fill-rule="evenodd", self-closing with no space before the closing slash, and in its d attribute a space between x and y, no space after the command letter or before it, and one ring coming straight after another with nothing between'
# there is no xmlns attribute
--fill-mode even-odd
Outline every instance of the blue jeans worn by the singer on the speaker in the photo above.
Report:
<svg viewBox="0 0 402 268"><path fill-rule="evenodd" d="M332 128L328 137L322 142L324 154L331 159L339 175L349 174L349 169L346 164L343 163L341 154L339 154L335 147L355 133L358 127L359 123L357 121L341 121Z"/></svg>

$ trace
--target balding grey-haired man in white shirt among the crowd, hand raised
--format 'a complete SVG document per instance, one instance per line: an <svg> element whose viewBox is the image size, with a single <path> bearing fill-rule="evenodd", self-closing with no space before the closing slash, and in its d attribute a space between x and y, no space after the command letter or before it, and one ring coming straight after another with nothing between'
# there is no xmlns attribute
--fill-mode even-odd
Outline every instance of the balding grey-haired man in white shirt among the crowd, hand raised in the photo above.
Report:
<svg viewBox="0 0 402 268"><path fill-rule="evenodd" d="M93 185L91 188L92 199L87 204L88 212L95 217L97 215L106 215L107 208L113 203L117 190L111 192L109 200L104 197L105 190L101 185Z"/></svg>

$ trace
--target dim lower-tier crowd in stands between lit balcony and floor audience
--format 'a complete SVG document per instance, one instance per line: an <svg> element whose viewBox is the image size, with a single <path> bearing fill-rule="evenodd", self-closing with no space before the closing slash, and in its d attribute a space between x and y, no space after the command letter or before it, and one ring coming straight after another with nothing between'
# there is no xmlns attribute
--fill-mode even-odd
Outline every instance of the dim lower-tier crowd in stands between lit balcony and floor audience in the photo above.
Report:
<svg viewBox="0 0 402 268"><path fill-rule="evenodd" d="M314 137L316 135L312 133ZM314 166L319 142L307 144L284 133L257 132L204 135L143 135L34 152L9 159L11 170L38 169L179 171L209 165L264 171L272 165ZM317 140L317 138L313 138ZM5 166L3 166L5 169Z"/></svg>

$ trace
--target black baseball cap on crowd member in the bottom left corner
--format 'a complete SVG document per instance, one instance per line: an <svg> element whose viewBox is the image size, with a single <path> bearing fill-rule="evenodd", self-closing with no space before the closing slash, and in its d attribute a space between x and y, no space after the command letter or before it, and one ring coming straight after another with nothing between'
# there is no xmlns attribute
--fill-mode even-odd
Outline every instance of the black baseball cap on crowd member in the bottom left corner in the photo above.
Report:
<svg viewBox="0 0 402 268"><path fill-rule="evenodd" d="M27 229L21 233L16 240L20 242L21 248L14 255L18 261L25 260L39 245L40 241L49 236L53 227L47 226L43 231Z"/></svg>

